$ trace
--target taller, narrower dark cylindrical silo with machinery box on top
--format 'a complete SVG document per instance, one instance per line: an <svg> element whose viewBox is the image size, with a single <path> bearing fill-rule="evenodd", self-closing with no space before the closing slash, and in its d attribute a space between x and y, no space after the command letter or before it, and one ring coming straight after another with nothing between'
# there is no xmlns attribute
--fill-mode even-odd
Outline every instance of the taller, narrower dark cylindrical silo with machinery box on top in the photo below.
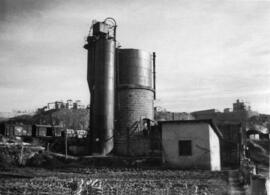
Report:
<svg viewBox="0 0 270 195"><path fill-rule="evenodd" d="M110 29L113 28L113 35ZM87 80L90 100L92 154L106 155L113 149L115 108L115 28L104 22L92 26L87 37Z"/></svg>

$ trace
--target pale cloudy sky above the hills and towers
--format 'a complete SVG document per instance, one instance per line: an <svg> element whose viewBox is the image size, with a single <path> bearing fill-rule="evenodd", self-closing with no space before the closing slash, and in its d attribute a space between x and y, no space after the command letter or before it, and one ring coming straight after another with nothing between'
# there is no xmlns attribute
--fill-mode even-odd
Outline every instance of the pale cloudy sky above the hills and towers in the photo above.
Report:
<svg viewBox="0 0 270 195"><path fill-rule="evenodd" d="M123 48L157 53L157 102L171 111L270 114L270 1L0 0L0 111L89 103L93 19L113 17Z"/></svg>

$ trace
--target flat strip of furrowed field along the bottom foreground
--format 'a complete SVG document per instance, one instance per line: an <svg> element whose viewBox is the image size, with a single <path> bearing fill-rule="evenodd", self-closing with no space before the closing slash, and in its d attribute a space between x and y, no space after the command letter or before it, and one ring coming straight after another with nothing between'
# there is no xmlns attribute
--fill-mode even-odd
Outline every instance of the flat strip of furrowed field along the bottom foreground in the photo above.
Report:
<svg viewBox="0 0 270 195"><path fill-rule="evenodd" d="M13 168L0 194L226 194L225 172L136 168Z"/></svg>

